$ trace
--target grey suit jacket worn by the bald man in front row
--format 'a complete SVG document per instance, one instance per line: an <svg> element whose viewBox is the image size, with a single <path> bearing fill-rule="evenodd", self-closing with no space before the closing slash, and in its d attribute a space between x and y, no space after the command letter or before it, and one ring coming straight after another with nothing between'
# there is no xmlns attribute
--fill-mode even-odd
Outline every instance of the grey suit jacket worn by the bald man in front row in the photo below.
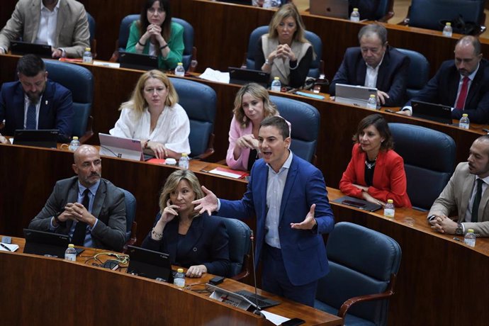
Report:
<svg viewBox="0 0 489 326"><path fill-rule="evenodd" d="M67 203L76 203L77 199L78 176L57 181L43 209L30 221L29 228L50 232L52 216L63 210ZM91 215L99 219L91 230L94 247L120 252L125 241L124 193L111 181L100 179ZM67 235L72 225L73 221L67 220L66 224L57 227L55 232Z"/></svg>

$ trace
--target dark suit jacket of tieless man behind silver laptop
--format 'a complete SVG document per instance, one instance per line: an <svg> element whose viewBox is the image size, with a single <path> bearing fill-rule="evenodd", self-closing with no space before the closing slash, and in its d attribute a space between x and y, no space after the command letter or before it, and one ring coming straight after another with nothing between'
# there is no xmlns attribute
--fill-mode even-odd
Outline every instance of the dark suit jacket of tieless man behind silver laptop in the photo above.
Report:
<svg viewBox="0 0 489 326"><path fill-rule="evenodd" d="M400 106L405 101L410 59L403 53L388 46L378 67L376 88L388 94L385 106ZM349 47L344 53L343 62L330 85L330 94L335 95L336 84L365 84L366 63L361 56L360 47Z"/></svg>

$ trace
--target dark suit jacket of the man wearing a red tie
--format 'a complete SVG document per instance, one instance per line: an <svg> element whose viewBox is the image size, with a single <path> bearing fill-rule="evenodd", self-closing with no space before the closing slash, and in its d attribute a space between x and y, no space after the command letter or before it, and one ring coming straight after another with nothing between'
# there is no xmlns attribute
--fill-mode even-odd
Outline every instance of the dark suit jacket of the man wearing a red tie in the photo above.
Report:
<svg viewBox="0 0 489 326"><path fill-rule="evenodd" d="M460 74L456 69L454 60L446 60L439 67L437 74L428 81L428 84L412 100L429 103L455 105L457 91L459 90ZM411 106L411 101L405 104ZM451 117L460 119L463 113L468 113L471 123L488 123L489 121L489 62L480 60L479 69L468 89L465 108L454 109Z"/></svg>

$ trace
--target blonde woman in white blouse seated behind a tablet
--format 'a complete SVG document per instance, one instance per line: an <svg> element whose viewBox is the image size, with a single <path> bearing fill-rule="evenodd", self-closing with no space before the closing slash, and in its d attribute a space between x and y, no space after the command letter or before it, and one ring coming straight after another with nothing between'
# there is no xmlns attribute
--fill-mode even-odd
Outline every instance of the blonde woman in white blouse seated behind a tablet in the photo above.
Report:
<svg viewBox="0 0 489 326"><path fill-rule="evenodd" d="M120 118L109 133L141 140L141 147L159 159L190 153L190 122L166 74L150 70L137 81L131 99L119 108Z"/></svg>

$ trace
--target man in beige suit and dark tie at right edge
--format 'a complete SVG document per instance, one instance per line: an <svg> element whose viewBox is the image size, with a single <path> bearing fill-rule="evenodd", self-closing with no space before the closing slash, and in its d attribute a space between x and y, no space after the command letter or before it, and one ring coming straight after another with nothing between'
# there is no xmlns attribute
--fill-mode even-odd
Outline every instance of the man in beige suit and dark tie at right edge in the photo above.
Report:
<svg viewBox="0 0 489 326"><path fill-rule="evenodd" d="M464 235L473 229L478 237L489 237L489 135L478 137L471 146L468 162L459 163L454 175L429 210L434 230ZM457 220L447 216L458 214Z"/></svg>

